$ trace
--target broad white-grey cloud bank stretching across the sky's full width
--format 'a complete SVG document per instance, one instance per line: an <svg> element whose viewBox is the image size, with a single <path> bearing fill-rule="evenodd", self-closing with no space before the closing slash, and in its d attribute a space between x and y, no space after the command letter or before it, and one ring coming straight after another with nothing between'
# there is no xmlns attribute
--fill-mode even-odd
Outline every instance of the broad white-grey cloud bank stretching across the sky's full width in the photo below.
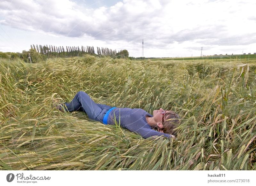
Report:
<svg viewBox="0 0 256 186"><path fill-rule="evenodd" d="M255 3L239 0L124 0L108 8L71 0L2 0L0 24L106 43L135 45L144 38L150 48L167 49L188 41L193 45L246 45L255 43L253 7Z"/></svg>

